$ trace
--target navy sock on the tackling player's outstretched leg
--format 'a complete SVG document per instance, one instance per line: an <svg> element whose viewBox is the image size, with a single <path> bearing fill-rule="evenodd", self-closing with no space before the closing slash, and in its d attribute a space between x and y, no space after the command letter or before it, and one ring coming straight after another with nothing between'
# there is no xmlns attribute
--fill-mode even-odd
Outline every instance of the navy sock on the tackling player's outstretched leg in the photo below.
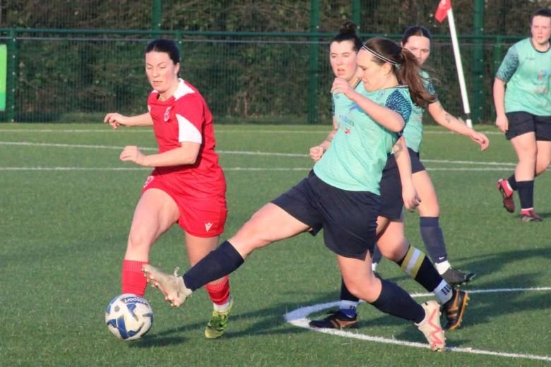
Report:
<svg viewBox="0 0 551 367"><path fill-rule="evenodd" d="M230 242L224 241L184 274L184 283L194 291L237 270L243 262L242 256L235 247Z"/></svg>

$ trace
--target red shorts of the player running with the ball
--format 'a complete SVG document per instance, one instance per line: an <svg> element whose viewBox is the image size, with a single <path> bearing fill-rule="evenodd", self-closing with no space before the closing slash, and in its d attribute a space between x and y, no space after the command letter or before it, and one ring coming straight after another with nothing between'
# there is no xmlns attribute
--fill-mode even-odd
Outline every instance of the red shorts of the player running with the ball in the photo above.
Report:
<svg viewBox="0 0 551 367"><path fill-rule="evenodd" d="M225 196L194 198L182 195L182 193L174 192L167 181L170 179L166 175L148 176L142 193L150 188L158 188L170 195L178 205L179 226L192 236L208 238L223 233L227 217Z"/></svg>

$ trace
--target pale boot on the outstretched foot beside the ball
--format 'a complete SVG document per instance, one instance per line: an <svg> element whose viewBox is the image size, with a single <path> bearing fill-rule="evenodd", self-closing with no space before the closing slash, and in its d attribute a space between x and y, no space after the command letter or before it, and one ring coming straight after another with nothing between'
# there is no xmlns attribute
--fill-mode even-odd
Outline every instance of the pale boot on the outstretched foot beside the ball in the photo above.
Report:
<svg viewBox="0 0 551 367"><path fill-rule="evenodd" d="M184 278L176 275L178 268L174 270L174 275L166 274L149 264L144 264L141 270L148 279L148 283L153 284L153 287L158 287L165 294L165 301L170 302L172 307L182 306L191 294L191 289L184 284Z"/></svg>

